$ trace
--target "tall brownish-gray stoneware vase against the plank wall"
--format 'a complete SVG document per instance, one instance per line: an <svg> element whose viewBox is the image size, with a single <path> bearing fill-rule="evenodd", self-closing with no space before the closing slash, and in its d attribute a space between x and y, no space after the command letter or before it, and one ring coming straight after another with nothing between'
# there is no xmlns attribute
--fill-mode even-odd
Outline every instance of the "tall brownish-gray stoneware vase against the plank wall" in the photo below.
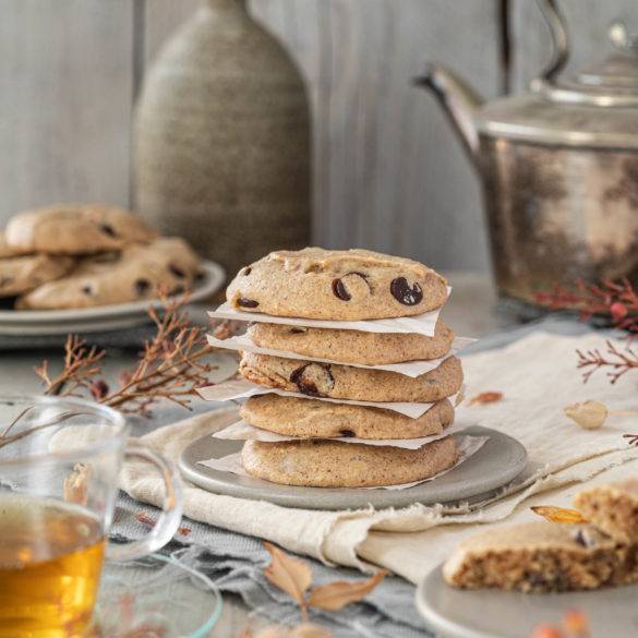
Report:
<svg viewBox="0 0 638 638"><path fill-rule="evenodd" d="M245 0L207 0L164 47L135 118L136 207L229 277L310 232L305 87Z"/></svg>

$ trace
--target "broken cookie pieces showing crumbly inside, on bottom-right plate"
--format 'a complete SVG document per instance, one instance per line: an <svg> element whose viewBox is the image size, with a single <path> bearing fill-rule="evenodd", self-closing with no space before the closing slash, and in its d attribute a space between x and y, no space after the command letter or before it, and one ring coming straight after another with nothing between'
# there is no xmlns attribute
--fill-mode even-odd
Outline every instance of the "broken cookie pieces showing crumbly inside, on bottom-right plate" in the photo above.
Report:
<svg viewBox="0 0 638 638"><path fill-rule="evenodd" d="M539 593L638 582L638 480L589 487L574 504L589 522L534 521L470 537L445 563L446 581Z"/></svg>

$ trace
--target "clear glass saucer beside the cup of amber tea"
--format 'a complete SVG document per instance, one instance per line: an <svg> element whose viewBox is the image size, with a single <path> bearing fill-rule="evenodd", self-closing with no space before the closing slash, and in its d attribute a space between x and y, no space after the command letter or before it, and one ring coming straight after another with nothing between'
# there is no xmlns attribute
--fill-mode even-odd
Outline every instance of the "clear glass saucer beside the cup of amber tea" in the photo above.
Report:
<svg viewBox="0 0 638 638"><path fill-rule="evenodd" d="M103 638L203 638L221 615L221 594L204 574L179 558L152 554L106 563L95 613Z"/></svg>

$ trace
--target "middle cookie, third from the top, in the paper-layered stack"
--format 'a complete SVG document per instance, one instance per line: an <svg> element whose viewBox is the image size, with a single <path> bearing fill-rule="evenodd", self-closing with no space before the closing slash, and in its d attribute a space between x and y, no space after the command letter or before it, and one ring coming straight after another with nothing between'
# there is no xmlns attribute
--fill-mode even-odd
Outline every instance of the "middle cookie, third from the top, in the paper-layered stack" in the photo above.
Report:
<svg viewBox="0 0 638 638"><path fill-rule="evenodd" d="M438 401L456 394L464 380L456 357L448 357L425 374L410 377L385 370L243 352L239 371L244 378L263 386L358 401Z"/></svg>

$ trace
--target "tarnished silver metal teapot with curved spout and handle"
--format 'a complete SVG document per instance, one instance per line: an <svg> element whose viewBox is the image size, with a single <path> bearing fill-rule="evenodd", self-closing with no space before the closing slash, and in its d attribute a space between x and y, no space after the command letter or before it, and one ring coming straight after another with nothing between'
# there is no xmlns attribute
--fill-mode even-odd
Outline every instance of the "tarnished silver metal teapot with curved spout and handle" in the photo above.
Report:
<svg viewBox="0 0 638 638"><path fill-rule="evenodd" d="M612 25L618 51L558 80L565 21L553 0L538 3L554 55L529 93L484 104L437 65L416 81L440 99L482 180L501 297L534 304L556 284L638 280L638 39Z"/></svg>

